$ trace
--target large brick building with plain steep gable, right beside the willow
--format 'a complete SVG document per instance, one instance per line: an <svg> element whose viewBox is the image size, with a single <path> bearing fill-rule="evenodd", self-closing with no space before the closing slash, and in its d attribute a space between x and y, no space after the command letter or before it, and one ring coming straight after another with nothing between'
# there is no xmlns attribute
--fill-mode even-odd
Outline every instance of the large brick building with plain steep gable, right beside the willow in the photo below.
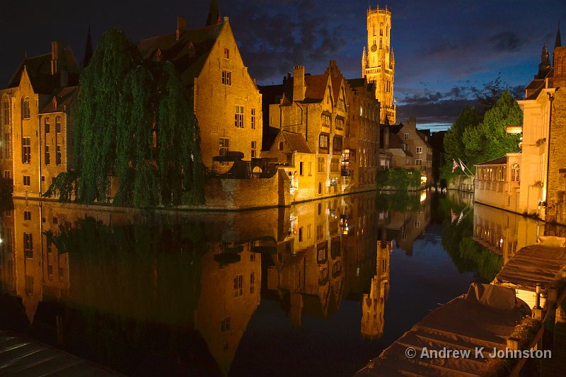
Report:
<svg viewBox="0 0 566 377"><path fill-rule="evenodd" d="M175 33L141 40L138 48L144 59L175 65L193 99L204 166L226 173L233 166L230 155L260 157L262 100L229 18L221 19L214 4L204 28L187 30L185 18L178 17Z"/></svg>

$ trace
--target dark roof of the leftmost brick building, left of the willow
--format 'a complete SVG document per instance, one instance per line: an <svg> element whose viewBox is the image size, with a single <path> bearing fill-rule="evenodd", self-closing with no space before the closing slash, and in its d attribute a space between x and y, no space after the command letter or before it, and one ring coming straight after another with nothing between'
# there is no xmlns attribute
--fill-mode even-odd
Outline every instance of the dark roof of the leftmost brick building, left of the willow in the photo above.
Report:
<svg viewBox="0 0 566 377"><path fill-rule="evenodd" d="M23 67L28 71L31 85L35 93L49 94L55 88L61 86L61 72L67 71L68 82L70 85L79 83L79 63L76 62L71 47L59 47L59 59L57 59L57 74L51 74L52 54L42 54L35 57L26 57L21 62L16 72L13 74L8 88L15 88L20 85Z"/></svg>

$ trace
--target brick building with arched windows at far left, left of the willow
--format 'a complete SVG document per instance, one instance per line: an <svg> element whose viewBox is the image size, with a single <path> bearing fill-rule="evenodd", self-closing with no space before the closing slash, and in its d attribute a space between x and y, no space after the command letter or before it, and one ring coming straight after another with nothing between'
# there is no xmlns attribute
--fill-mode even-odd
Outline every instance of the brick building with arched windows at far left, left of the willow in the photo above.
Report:
<svg viewBox="0 0 566 377"><path fill-rule="evenodd" d="M26 57L0 91L2 176L13 180L14 196L39 197L69 169L74 135L67 119L78 82L71 48L52 42L49 54Z"/></svg>

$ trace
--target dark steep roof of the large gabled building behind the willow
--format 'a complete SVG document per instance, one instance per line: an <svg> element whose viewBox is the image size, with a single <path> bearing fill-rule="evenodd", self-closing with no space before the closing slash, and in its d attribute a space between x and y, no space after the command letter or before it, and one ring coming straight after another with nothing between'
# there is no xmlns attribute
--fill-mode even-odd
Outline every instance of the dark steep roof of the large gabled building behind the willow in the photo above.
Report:
<svg viewBox="0 0 566 377"><path fill-rule="evenodd" d="M175 65L181 81L190 86L200 74L226 21L200 29L141 40L138 49L144 59L168 60Z"/></svg>

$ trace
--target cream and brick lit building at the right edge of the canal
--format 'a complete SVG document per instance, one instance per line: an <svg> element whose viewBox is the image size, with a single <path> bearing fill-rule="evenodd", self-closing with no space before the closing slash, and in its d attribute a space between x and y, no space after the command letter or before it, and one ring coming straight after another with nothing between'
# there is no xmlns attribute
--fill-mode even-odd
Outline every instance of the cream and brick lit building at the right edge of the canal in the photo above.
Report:
<svg viewBox="0 0 566 377"><path fill-rule="evenodd" d="M476 164L475 200L520 214L536 214L546 221L566 223L565 161L566 47L560 30L553 50L553 64L546 46L538 73L518 100L523 124L508 124L507 132L522 132L521 152Z"/></svg>

